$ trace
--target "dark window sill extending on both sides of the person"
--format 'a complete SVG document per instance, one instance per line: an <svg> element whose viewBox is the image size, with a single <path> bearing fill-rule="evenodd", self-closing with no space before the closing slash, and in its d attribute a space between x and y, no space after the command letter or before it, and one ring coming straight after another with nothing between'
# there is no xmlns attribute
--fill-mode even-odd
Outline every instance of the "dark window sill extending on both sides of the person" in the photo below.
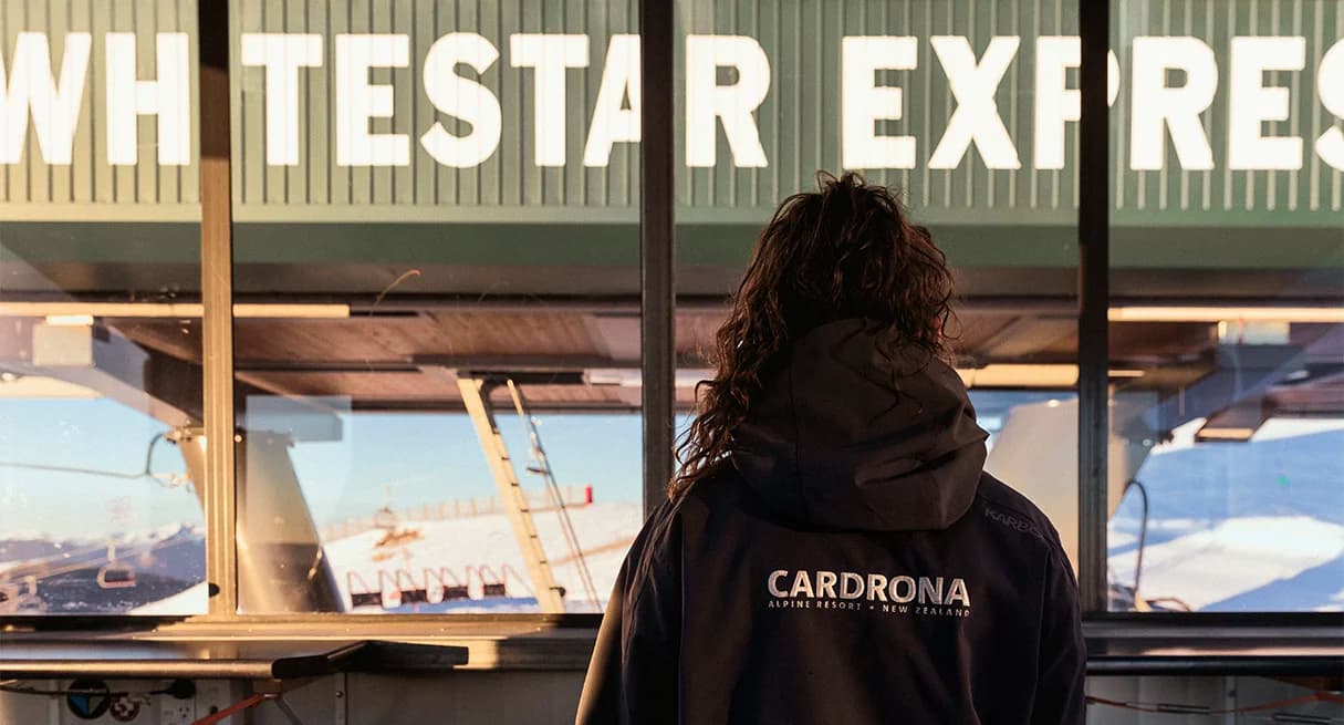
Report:
<svg viewBox="0 0 1344 725"><path fill-rule="evenodd" d="M1258 621L1263 621L1262 619ZM1339 675L1344 662L1340 617L1316 617L1308 624L1238 621L1163 621L1157 617L1087 621L1087 673L1105 675ZM595 617L548 620L499 617L453 621L444 617L293 617L284 620L181 621L152 629L7 634L7 644L24 642L352 642L379 640L456 646L466 650L466 664L442 670L560 670L587 669ZM423 662L411 667L434 670ZM384 671L396 671L395 660Z"/></svg>

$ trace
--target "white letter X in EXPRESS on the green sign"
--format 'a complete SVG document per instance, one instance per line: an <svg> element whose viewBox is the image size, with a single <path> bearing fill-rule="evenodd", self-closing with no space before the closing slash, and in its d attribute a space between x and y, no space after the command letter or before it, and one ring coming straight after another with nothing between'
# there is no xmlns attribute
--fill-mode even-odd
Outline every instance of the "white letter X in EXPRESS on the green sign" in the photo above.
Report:
<svg viewBox="0 0 1344 725"><path fill-rule="evenodd" d="M948 74L952 94L957 98L957 110L952 113L942 140L933 149L929 168L957 168L970 144L980 149L980 156L989 168L1020 168L1017 149L995 102L999 81L1017 55L1017 36L995 36L978 63L976 51L960 35L935 35L929 42Z"/></svg>

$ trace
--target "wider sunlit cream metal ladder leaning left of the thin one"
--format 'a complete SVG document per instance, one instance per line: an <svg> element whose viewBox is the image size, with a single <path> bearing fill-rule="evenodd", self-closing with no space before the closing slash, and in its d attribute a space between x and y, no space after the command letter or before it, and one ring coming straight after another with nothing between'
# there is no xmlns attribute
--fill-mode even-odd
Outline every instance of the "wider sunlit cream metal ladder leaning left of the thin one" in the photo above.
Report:
<svg viewBox="0 0 1344 725"><path fill-rule="evenodd" d="M512 381L508 381L512 385ZM513 537L517 539L519 550L523 554L523 564L527 566L528 577L532 580L532 590L536 593L536 603L543 612L564 612L564 597L555 584L551 572L551 562L546 558L546 547L536 534L536 523L532 521L532 507L528 504L527 492L519 484L513 461L509 459L508 447L500 434L495 421L495 408L491 405L491 390L499 386L497 379L473 377L462 373L457 378L457 387L462 394L462 404L472 417L476 436L485 451L485 460L495 475L495 484L499 487L500 499L508 512L509 525L513 527Z"/></svg>

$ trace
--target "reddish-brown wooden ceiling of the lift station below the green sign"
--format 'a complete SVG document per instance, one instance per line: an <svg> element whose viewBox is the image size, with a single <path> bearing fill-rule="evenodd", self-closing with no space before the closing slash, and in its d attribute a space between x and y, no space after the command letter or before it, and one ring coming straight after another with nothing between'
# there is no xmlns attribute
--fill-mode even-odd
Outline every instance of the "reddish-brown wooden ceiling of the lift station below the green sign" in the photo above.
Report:
<svg viewBox="0 0 1344 725"><path fill-rule="evenodd" d="M726 307L677 312L676 350L683 369L706 365L703 355L711 350L726 312ZM1070 315L968 308L960 320L957 352L973 363L1077 359L1077 321ZM200 320L108 319L105 324L148 350L200 360ZM1339 330L1293 326L1292 339L1310 348L1309 362L1324 363L1337 359L1344 348ZM1173 390L1208 373L1203 354L1216 346L1216 330L1207 323L1113 323L1110 344L1116 366L1144 370L1141 378L1121 382L1121 387ZM629 370L638 365L638 316L622 309L426 309L349 319L241 319L235 358L239 381L276 394L348 397L353 405L372 409L460 410L452 374L458 366L520 373ZM544 409L628 410L640 405L637 386L534 382L524 393ZM692 406L692 389L677 389L676 394L680 409ZM1321 399L1318 391L1275 394L1298 410ZM1336 408L1333 398L1324 405Z"/></svg>

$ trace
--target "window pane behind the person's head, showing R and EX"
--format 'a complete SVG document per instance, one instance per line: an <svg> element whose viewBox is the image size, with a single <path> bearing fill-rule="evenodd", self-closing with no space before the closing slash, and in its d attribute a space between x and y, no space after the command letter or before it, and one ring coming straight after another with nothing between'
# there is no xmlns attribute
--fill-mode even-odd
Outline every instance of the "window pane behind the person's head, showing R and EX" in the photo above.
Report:
<svg viewBox="0 0 1344 725"><path fill-rule="evenodd" d="M814 191L818 171L862 171L946 253L956 365L993 434L986 467L1055 521L1073 554L1077 124L1036 118L1062 90L1038 93L1042 69L1077 87L1075 13L1074 3L681 0L681 405L708 374L723 300L775 206ZM1058 445L1043 452L1042 437Z"/></svg>

